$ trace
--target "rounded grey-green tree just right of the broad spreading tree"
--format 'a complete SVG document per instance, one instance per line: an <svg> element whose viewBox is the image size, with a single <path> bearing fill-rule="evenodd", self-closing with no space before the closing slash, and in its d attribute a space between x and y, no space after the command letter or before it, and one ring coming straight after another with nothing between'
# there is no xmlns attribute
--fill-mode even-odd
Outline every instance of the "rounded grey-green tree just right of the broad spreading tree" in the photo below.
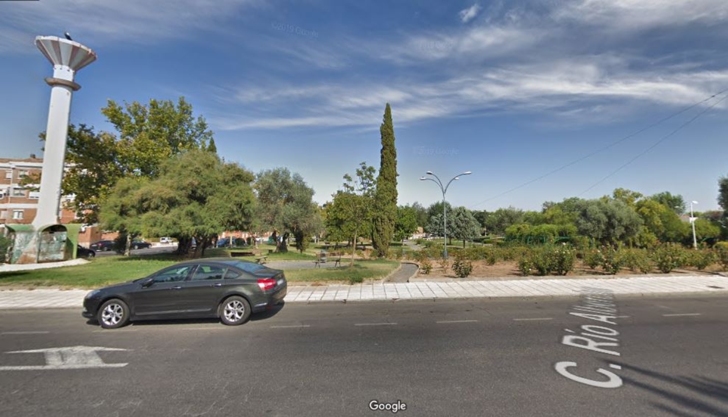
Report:
<svg viewBox="0 0 728 417"><path fill-rule="evenodd" d="M309 237L320 230L321 216L313 202L314 190L298 173L287 168L265 170L256 179L258 193L258 219L272 230L279 252L288 252L288 237L296 238L296 249L303 253Z"/></svg>

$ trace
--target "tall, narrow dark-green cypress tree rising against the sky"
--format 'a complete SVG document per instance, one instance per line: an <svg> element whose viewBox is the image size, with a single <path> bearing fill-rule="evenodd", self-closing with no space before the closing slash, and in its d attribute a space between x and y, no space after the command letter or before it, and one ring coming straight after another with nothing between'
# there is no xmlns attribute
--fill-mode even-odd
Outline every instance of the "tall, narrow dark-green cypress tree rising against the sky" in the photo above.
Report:
<svg viewBox="0 0 728 417"><path fill-rule="evenodd" d="M382 258L387 256L397 221L397 148L395 148L395 127L392 124L392 109L389 108L389 103L384 108L384 121L379 127L379 132L381 159L374 195L372 245L377 255Z"/></svg>

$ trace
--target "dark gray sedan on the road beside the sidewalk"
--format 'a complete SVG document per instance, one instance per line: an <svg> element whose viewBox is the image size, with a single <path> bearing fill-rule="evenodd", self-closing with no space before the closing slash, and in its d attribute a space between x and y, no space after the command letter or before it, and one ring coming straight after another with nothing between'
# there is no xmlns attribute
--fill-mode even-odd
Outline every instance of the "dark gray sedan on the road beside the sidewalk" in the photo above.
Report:
<svg viewBox="0 0 728 417"><path fill-rule="evenodd" d="M93 290L84 298L82 315L107 329L130 320L203 317L242 325L251 313L283 301L286 287L278 269L230 258L196 259Z"/></svg>

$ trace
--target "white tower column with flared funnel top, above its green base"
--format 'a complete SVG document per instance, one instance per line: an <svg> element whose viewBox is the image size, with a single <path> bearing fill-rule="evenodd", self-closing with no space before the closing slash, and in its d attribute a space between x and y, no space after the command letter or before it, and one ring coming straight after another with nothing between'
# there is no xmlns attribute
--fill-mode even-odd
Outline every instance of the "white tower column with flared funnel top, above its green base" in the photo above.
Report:
<svg viewBox="0 0 728 417"><path fill-rule="evenodd" d="M40 199L33 220L33 226L37 229L40 226L58 223L60 183L63 180L63 162L66 159L71 95L81 88L74 82L74 75L76 71L96 60L96 52L76 41L60 39L58 36L38 36L36 47L53 64L53 76L45 79L51 90Z"/></svg>

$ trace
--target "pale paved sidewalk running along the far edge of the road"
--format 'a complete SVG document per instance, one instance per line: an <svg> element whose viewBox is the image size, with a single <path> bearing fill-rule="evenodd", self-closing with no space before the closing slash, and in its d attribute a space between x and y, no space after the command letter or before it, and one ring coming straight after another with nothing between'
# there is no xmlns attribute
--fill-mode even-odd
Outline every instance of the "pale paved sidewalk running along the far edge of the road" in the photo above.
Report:
<svg viewBox="0 0 728 417"><path fill-rule="evenodd" d="M291 286L287 303L323 301L392 301L410 299L555 297L578 295L585 287L615 294L728 294L728 277L719 275L644 276L590 279L521 279L517 281L403 282L358 285ZM81 308L87 290L0 290L0 309Z"/></svg>

